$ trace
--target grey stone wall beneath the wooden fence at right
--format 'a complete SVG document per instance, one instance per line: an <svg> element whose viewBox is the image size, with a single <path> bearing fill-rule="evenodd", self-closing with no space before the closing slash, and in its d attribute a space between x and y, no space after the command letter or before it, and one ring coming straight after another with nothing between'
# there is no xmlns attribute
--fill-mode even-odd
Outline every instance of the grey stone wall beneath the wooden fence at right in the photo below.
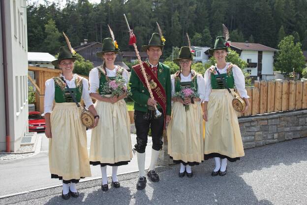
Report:
<svg viewBox="0 0 307 205"><path fill-rule="evenodd" d="M244 148L307 137L307 110L239 118Z"/></svg>

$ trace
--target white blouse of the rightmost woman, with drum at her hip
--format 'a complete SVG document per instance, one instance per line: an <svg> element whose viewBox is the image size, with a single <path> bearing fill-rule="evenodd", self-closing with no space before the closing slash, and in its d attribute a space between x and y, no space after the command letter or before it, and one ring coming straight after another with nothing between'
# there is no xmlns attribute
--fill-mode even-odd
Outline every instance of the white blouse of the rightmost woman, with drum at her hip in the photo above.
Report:
<svg viewBox="0 0 307 205"><path fill-rule="evenodd" d="M226 64L225 68L218 69L219 73L220 74L227 73L228 65L229 65L229 63ZM242 98L249 98L247 96L247 91L245 89L245 77L244 77L242 70L237 66L233 66L232 67L232 74L233 74L233 77L234 77L236 88L237 88L240 96ZM206 89L205 101L208 102L209 96L210 96L210 93L211 93L211 72L210 72L210 69L206 70L206 72L204 74L204 78L205 78L205 89Z"/></svg>

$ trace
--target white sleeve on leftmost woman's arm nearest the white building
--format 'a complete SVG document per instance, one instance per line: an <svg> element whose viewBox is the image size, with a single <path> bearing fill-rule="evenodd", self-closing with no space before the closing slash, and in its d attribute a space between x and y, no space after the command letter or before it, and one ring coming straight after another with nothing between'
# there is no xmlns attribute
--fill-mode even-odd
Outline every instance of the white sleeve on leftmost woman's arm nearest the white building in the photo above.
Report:
<svg viewBox="0 0 307 205"><path fill-rule="evenodd" d="M48 79L45 82L45 98L44 98L44 116L46 113L51 113L53 107L53 101L55 98L55 81L54 79Z"/></svg>

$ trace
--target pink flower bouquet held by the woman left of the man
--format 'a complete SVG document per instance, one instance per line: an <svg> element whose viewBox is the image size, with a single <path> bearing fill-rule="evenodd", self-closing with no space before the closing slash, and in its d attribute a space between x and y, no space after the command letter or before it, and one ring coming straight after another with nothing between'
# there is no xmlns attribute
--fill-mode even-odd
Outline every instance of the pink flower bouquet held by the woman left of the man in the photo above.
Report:
<svg viewBox="0 0 307 205"><path fill-rule="evenodd" d="M125 80L123 77L116 76L114 80L108 80L105 82L102 91L105 95L121 96L124 93L130 93L129 85L125 85Z"/></svg>

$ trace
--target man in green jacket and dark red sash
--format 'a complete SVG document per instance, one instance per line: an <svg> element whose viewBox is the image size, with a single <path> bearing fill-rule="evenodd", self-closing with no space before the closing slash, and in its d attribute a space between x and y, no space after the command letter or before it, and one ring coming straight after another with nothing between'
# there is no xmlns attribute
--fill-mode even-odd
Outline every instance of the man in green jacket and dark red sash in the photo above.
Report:
<svg viewBox="0 0 307 205"><path fill-rule="evenodd" d="M159 181L159 176L154 168L158 159L159 151L162 149L162 135L165 123L171 119L171 76L170 68L159 63L165 39L162 35L153 33L148 45L142 46L142 50L147 52L148 61L143 62L143 67L153 92L150 97L145 77L141 66L132 67L130 86L131 96L134 101L134 122L136 128L137 143L134 150L137 152L139 167L139 180L136 184L137 189L146 187L145 177L145 148L149 129L152 132L152 158L147 175L153 182ZM160 117L155 117L154 107L162 113Z"/></svg>

